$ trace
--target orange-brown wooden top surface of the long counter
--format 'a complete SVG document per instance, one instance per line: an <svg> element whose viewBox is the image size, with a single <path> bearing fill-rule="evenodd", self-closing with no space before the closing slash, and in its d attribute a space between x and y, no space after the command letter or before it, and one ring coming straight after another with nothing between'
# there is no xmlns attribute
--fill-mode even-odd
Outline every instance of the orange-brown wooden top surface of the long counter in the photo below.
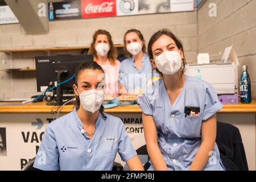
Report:
<svg viewBox="0 0 256 182"><path fill-rule="evenodd" d="M0 102L0 105L15 104L20 102ZM19 106L0 106L0 113L51 113L53 106L47 106L46 102L29 103ZM69 113L74 105L65 105L60 113ZM141 113L139 106L117 106L105 109L105 113ZM218 113L256 113L256 100L251 104L224 105Z"/></svg>

